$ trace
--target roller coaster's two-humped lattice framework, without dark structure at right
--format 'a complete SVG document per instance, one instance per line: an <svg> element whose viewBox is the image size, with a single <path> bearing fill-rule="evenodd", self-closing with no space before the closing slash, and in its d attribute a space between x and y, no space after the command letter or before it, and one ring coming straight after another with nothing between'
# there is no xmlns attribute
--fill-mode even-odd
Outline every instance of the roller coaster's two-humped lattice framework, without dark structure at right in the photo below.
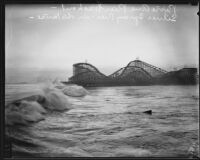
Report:
<svg viewBox="0 0 200 160"><path fill-rule="evenodd" d="M82 86L148 85L165 73L167 71L140 60L131 61L109 76L89 63L76 63L69 82Z"/></svg>

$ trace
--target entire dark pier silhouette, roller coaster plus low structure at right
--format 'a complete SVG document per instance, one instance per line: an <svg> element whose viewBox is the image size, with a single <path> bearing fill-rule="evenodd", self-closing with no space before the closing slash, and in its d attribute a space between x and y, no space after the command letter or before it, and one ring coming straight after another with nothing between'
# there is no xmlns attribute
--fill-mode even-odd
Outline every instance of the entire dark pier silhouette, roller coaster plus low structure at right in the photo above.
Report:
<svg viewBox="0 0 200 160"><path fill-rule="evenodd" d="M183 68L167 72L141 60L134 60L106 76L89 63L73 65L73 76L66 83L89 86L133 86L197 84L197 68Z"/></svg>

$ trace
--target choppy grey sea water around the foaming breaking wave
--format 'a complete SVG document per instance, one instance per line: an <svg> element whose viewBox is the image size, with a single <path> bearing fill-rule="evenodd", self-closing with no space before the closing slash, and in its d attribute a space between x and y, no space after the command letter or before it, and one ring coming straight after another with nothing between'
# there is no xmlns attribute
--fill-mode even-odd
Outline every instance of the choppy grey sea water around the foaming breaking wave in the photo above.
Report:
<svg viewBox="0 0 200 160"><path fill-rule="evenodd" d="M38 90L38 85L6 85L6 102ZM70 110L51 112L28 126L7 126L12 156L198 156L198 86L87 90L85 97L67 97Z"/></svg>

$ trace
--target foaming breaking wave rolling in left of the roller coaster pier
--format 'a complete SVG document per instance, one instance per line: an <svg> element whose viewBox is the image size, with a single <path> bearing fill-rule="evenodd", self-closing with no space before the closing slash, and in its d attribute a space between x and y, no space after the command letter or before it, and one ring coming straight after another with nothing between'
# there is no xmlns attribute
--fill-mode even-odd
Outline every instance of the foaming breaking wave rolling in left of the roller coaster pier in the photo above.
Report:
<svg viewBox="0 0 200 160"><path fill-rule="evenodd" d="M45 119L52 111L72 109L68 96L85 96L88 91L81 86L67 86L62 83L48 83L39 94L14 100L5 107L6 125L28 125Z"/></svg>

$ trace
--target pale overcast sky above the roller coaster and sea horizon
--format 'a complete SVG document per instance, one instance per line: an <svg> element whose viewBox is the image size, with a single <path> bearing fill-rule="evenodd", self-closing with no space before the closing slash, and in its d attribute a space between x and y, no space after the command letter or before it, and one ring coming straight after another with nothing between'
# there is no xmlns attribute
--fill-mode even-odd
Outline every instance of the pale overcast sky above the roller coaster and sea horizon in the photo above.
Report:
<svg viewBox="0 0 200 160"><path fill-rule="evenodd" d="M67 79L86 60L106 75L137 57L165 70L198 64L197 6L98 7L6 6L6 81Z"/></svg>

